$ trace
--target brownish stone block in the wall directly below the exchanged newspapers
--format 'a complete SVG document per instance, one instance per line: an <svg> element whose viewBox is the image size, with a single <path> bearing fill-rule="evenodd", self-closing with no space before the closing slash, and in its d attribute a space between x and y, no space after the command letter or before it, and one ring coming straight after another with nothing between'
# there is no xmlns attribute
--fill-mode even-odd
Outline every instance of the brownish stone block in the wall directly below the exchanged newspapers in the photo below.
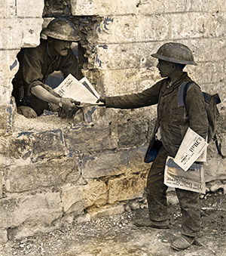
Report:
<svg viewBox="0 0 226 256"><path fill-rule="evenodd" d="M112 150L117 147L115 140L111 140L109 125L75 125L64 130L64 137L71 153Z"/></svg>

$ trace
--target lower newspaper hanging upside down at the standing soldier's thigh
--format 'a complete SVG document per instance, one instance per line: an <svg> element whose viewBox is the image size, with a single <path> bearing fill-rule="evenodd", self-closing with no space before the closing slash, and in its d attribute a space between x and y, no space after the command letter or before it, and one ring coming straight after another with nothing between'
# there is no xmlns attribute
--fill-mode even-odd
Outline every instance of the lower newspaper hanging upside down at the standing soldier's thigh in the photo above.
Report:
<svg viewBox="0 0 226 256"><path fill-rule="evenodd" d="M164 172L164 184L168 187L206 193L203 165L194 163L188 171L184 171L173 161L171 156L168 156Z"/></svg>

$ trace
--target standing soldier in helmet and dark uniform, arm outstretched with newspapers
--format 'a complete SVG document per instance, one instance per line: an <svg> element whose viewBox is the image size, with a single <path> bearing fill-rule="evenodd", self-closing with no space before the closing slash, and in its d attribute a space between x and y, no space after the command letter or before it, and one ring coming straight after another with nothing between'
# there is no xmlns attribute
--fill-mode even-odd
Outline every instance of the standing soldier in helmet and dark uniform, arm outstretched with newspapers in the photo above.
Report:
<svg viewBox="0 0 226 256"><path fill-rule="evenodd" d="M100 101L106 107L133 109L157 104L157 122L149 146L158 145L159 151L147 180L148 219L136 220L141 227L166 229L169 227L167 216L166 190L163 184L164 168L167 156L175 157L182 143L185 133L190 127L193 131L206 139L208 133L208 119L204 107L203 94L197 84L188 88L185 106L178 105L179 88L182 83L191 82L187 72L183 72L185 65L197 65L191 50L179 43L162 45L152 57L158 59L157 69L164 79L151 88L137 94L115 97L101 97ZM200 231L200 202L199 193L176 188L182 211L182 235L173 243L176 250L188 248L195 241Z"/></svg>

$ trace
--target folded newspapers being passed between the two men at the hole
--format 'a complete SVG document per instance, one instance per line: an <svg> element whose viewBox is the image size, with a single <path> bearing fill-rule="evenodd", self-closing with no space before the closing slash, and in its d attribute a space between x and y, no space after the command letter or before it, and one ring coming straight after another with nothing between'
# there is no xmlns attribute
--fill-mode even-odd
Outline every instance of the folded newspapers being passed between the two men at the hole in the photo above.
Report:
<svg viewBox="0 0 226 256"><path fill-rule="evenodd" d="M72 74L69 74L54 91L61 97L70 97L80 101L81 106L102 105L102 103L96 103L99 94L86 77L78 81Z"/></svg>

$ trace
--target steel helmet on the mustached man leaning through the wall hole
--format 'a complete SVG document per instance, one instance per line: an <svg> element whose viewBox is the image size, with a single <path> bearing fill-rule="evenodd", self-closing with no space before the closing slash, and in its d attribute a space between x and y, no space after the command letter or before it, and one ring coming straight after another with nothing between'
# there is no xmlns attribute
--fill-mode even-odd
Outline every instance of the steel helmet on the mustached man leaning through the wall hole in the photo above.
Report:
<svg viewBox="0 0 226 256"><path fill-rule="evenodd" d="M80 36L75 28L75 25L65 18L56 18L48 23L47 27L41 31L44 35L50 36L53 39L65 41L79 41Z"/></svg>

